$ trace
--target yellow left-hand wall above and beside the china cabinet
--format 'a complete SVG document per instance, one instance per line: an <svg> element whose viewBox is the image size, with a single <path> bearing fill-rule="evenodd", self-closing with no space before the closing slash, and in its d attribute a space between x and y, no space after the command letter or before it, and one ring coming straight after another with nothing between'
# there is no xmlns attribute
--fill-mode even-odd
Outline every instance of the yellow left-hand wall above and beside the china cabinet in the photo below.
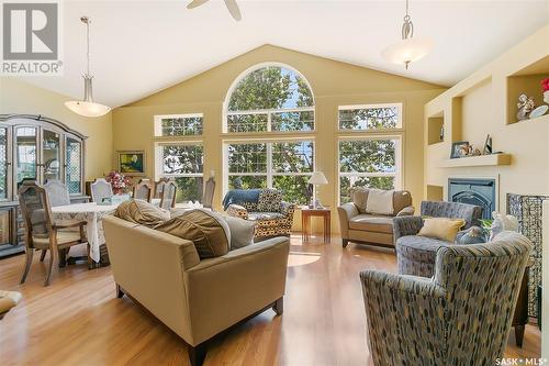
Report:
<svg viewBox="0 0 549 366"><path fill-rule="evenodd" d="M42 114L58 120L88 136L86 140L86 180L102 177L112 166L111 113L85 118L69 111L64 102L71 98L45 90L16 78L0 78L0 114Z"/></svg>

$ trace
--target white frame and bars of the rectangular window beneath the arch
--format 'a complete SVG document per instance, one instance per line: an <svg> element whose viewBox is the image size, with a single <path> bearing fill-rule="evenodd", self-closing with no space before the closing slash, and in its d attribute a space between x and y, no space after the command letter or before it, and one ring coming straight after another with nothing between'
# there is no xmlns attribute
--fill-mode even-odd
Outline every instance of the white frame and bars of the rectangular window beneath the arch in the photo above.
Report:
<svg viewBox="0 0 549 366"><path fill-rule="evenodd" d="M272 144L280 143L300 143L300 142L312 142L313 143L313 171L316 168L316 141L313 136L292 138L292 140L226 140L223 141L223 196L228 192L228 178L231 176L265 176L267 177L267 188L272 188L272 177L274 176L312 176L313 171L307 173L277 173L272 169ZM267 144L267 171L266 173L229 173L228 170L228 145L236 144Z"/></svg>

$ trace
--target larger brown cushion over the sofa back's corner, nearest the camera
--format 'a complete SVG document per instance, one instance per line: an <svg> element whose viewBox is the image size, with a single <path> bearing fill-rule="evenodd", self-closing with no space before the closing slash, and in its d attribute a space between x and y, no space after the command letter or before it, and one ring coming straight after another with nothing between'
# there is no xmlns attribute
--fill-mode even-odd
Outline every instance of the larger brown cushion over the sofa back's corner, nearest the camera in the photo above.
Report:
<svg viewBox="0 0 549 366"><path fill-rule="evenodd" d="M189 210L155 226L156 230L192 241L200 259L228 253L231 230L217 213L202 209Z"/></svg>

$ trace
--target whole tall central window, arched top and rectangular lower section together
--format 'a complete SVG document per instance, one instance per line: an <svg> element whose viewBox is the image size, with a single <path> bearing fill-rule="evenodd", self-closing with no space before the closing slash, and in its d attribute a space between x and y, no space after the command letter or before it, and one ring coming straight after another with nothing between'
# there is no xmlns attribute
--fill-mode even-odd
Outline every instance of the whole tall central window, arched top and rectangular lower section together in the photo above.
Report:
<svg viewBox="0 0 549 366"><path fill-rule="evenodd" d="M235 80L225 100L224 132L247 134L224 144L224 189L277 188L306 203L314 171L314 97L306 79L285 65L259 65ZM277 134L293 133L277 137ZM269 138L254 138L269 133ZM299 134L303 133L303 136Z"/></svg>

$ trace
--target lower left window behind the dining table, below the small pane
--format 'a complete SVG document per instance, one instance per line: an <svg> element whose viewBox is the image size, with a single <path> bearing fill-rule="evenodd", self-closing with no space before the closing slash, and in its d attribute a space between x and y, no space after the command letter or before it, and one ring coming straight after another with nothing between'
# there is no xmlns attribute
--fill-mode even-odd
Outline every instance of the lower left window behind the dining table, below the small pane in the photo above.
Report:
<svg viewBox="0 0 549 366"><path fill-rule="evenodd" d="M204 149L199 144L161 145L164 177L173 177L178 191L176 200L202 201Z"/></svg>

